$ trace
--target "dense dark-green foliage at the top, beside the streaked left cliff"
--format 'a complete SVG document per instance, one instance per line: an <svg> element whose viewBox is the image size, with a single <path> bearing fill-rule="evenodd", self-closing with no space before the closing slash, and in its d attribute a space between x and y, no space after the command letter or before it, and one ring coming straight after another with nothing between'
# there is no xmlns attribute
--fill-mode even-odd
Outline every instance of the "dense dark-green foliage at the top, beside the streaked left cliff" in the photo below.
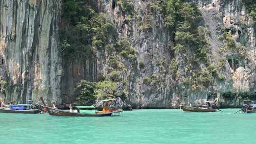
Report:
<svg viewBox="0 0 256 144"><path fill-rule="evenodd" d="M64 0L62 17L60 39L64 57L93 59L93 47L102 50L117 38L114 25L84 0Z"/></svg>

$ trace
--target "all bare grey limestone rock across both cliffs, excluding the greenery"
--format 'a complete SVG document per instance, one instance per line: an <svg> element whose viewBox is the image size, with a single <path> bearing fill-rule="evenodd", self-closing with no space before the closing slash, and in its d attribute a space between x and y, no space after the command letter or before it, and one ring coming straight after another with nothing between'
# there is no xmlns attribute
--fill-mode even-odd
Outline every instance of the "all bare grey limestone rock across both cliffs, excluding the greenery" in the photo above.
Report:
<svg viewBox="0 0 256 144"><path fill-rule="evenodd" d="M209 64L188 64L184 59L189 54L170 51L169 44L174 42L170 34L174 31L166 28L161 11L148 9L148 2L154 0L129 0L133 3L131 13L123 11L119 0L89 1L114 24L119 38L128 40L135 49L136 63L122 60L127 70L122 78L127 84L119 83L118 89L127 91L119 94L125 95L126 103L136 107L178 107L181 102L199 104L217 97L223 106L236 107L242 103L239 93L256 91L256 22L242 0L188 0L201 11L209 61L218 64L222 60L223 65L216 66L222 80L214 77L210 86L200 89L182 80L189 80L192 73ZM38 101L39 97L48 103L73 102L77 82L98 81L100 73L108 72L109 54L105 51L96 51L95 59L83 62L61 55L62 10L62 0L0 0L0 76L6 81L1 98L7 103ZM224 32L235 39L234 45L242 47L242 52L223 51L226 42L220 37ZM169 69L172 61L177 64L175 77ZM139 62L144 63L143 69ZM145 78L150 81L145 83ZM237 95L223 97L228 92Z"/></svg>

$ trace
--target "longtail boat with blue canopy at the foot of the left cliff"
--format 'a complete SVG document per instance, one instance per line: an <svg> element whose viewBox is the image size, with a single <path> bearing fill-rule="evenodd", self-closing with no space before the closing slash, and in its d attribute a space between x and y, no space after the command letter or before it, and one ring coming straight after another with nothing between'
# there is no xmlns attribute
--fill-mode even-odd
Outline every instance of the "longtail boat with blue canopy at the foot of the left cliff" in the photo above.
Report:
<svg viewBox="0 0 256 144"><path fill-rule="evenodd" d="M38 114L39 110L33 105L10 105L9 108L0 108L0 113Z"/></svg>

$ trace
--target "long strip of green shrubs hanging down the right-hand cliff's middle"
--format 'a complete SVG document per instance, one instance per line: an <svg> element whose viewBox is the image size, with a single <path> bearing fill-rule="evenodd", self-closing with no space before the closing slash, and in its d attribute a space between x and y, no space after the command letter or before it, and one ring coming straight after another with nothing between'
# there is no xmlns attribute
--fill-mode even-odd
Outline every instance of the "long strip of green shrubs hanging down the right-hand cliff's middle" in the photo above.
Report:
<svg viewBox="0 0 256 144"><path fill-rule="evenodd" d="M210 45L206 39L208 32L204 28L201 11L197 5L185 0L167 0L165 9L165 24L172 32L174 40L169 45L177 54L179 61L170 62L170 74L181 79L183 84L192 90L201 90L214 83L219 78L219 72L209 61ZM183 56L182 56L183 55ZM185 65L181 73L179 63ZM197 65L204 64L205 68L196 69Z"/></svg>

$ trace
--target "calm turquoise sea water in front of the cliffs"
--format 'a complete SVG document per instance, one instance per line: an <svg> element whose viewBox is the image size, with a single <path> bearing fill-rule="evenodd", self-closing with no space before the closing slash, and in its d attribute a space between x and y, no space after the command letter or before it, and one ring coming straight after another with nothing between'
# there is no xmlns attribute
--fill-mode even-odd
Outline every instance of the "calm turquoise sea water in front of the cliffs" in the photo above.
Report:
<svg viewBox="0 0 256 144"><path fill-rule="evenodd" d="M256 114L124 111L114 117L1 114L1 144L254 144Z"/></svg>

